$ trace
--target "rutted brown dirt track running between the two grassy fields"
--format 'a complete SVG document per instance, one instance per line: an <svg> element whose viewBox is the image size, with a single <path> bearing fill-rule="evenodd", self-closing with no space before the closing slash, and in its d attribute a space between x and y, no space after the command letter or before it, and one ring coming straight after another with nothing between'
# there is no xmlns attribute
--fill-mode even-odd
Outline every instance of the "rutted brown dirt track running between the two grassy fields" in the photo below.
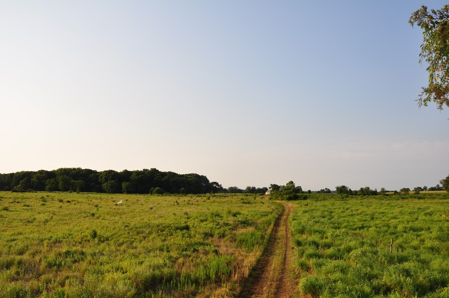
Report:
<svg viewBox="0 0 449 298"><path fill-rule="evenodd" d="M241 298L288 298L293 286L289 274L291 206L284 209L274 222L267 248L253 268L238 297Z"/></svg>

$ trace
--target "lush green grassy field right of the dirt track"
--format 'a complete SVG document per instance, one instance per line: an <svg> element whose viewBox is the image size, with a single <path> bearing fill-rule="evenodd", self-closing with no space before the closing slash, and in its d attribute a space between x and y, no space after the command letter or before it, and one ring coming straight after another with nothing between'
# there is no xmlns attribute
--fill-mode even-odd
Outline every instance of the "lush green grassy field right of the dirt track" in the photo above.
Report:
<svg viewBox="0 0 449 298"><path fill-rule="evenodd" d="M448 194L317 195L294 206L294 266L303 295L449 297Z"/></svg>

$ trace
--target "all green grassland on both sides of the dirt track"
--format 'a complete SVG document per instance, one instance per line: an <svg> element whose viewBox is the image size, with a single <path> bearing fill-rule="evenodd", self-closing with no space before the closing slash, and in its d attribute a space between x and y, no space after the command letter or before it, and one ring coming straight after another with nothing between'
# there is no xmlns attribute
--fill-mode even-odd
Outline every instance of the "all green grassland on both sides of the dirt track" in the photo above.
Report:
<svg viewBox="0 0 449 298"><path fill-rule="evenodd" d="M289 220L301 295L449 297L447 193L304 198ZM235 297L281 209L258 195L0 192L0 297Z"/></svg>

